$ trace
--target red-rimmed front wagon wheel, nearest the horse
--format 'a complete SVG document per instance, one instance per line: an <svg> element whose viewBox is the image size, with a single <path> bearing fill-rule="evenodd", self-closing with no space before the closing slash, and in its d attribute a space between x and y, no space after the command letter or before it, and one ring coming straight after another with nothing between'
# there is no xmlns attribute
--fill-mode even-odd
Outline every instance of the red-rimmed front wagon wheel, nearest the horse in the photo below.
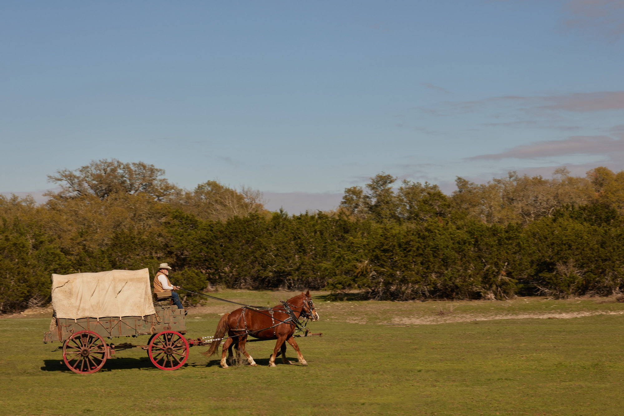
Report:
<svg viewBox="0 0 624 416"><path fill-rule="evenodd" d="M188 359L188 341L180 332L163 331L150 340L147 354L161 370L176 370Z"/></svg>

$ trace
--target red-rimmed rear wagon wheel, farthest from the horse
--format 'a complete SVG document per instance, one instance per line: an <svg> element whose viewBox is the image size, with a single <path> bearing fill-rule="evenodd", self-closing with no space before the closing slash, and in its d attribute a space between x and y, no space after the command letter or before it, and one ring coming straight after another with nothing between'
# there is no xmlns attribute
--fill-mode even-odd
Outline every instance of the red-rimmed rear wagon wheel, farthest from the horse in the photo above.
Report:
<svg viewBox="0 0 624 416"><path fill-rule="evenodd" d="M106 342L92 331L74 332L63 344L63 361L74 373L94 373L106 362Z"/></svg>

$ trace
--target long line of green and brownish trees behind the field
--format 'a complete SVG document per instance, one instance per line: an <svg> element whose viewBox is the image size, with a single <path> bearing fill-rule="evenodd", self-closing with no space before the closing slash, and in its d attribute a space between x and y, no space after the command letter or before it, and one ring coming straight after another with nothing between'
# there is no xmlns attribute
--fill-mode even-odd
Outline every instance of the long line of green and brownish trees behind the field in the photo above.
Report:
<svg viewBox="0 0 624 416"><path fill-rule="evenodd" d="M193 291L359 290L369 299L610 295L623 289L624 172L519 176L450 195L381 173L330 212L269 212L215 181L93 161L49 176L44 204L0 196L0 312L49 302L52 273L173 265Z"/></svg>

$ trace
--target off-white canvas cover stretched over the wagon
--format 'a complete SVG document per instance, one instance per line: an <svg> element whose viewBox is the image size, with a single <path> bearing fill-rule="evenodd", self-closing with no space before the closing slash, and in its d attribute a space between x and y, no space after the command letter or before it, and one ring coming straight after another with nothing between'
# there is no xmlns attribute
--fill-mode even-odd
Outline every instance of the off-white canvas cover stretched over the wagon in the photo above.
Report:
<svg viewBox="0 0 624 416"><path fill-rule="evenodd" d="M53 274L52 307L70 319L154 314L149 270Z"/></svg>

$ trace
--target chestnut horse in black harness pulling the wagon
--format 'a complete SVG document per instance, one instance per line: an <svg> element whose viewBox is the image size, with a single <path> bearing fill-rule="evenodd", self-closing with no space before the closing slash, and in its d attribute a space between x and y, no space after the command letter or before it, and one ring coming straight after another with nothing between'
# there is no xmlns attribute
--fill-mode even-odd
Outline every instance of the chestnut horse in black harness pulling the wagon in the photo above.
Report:
<svg viewBox="0 0 624 416"><path fill-rule="evenodd" d="M229 350L229 357L232 357L232 347L236 346L236 352L245 355L247 362L250 365L258 365L253 360L251 355L245 350L245 343L247 342L247 335L251 335L254 338L260 340L276 339L275 349L269 359L269 366L275 367L275 359L278 355L278 350L281 349L281 359L284 364L290 364L290 361L286 360L286 344L292 345L297 352L297 357L302 365L308 365L301 351L299 345L293 339L293 333L295 332L295 322L291 320L291 315L288 313L288 309L292 311L295 319L300 317L310 318L311 320L318 320L318 314L314 309L314 304L310 298L310 290L305 294L301 292L300 295L296 295L291 299L286 300L285 304L278 305L272 308L266 309L250 309L248 307L238 308L233 310L229 314L223 315L219 324L217 325L217 331L215 332L215 339L222 339L227 333L229 337L223 342L223 352L221 354L221 367L227 369L228 365L225 361L225 351ZM203 355L210 357L215 354L219 349L221 340L213 341L210 344L210 348L203 352Z"/></svg>

